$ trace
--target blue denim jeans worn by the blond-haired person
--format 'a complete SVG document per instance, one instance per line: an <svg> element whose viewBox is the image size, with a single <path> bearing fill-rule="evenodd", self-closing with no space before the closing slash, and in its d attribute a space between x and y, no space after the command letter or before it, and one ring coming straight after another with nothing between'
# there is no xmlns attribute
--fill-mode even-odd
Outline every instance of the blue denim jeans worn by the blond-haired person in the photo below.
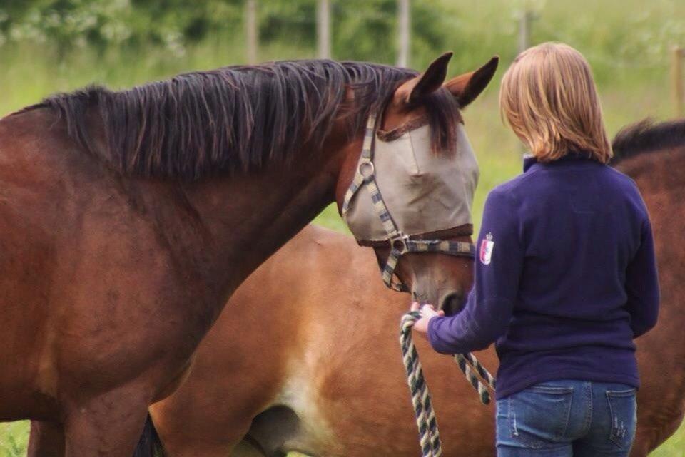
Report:
<svg viewBox="0 0 685 457"><path fill-rule="evenodd" d="M497 400L497 456L624 457L636 422L631 386L544 382Z"/></svg>

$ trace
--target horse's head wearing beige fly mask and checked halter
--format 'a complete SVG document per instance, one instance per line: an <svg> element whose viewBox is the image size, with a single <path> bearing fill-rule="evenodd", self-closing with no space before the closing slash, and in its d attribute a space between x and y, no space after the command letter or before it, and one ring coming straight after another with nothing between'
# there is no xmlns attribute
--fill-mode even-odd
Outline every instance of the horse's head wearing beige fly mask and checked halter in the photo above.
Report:
<svg viewBox="0 0 685 457"><path fill-rule="evenodd" d="M451 56L400 84L385 108L371 113L362 153L357 142L336 192L357 241L374 247L388 287L447 314L470 289L475 251L478 166L459 109L483 91L498 63L492 58L445 82Z"/></svg>

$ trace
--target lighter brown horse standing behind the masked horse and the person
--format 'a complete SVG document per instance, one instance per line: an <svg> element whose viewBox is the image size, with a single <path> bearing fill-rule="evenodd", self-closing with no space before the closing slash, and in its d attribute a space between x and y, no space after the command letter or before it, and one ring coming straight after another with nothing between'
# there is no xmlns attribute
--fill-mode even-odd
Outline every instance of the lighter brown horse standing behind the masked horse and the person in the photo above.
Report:
<svg viewBox="0 0 685 457"><path fill-rule="evenodd" d="M685 120L626 128L614 151L649 207L661 281L659 323L636 340L642 388L631 456L646 457L685 411ZM265 262L199 346L185 384L151 406L165 455L416 456L397 342L409 300L367 280L374 264L350 237L313 226ZM494 457L492 406L479 404L450 358L422 339L417 346L445 456ZM492 348L477 357L497 368Z"/></svg>

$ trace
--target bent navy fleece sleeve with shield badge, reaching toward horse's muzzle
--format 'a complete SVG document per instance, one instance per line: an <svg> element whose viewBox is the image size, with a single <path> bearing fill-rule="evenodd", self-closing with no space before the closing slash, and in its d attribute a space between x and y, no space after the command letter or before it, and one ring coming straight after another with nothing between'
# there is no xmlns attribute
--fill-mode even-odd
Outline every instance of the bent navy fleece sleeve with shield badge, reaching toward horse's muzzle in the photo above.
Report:
<svg viewBox="0 0 685 457"><path fill-rule="evenodd" d="M516 206L512 197L497 189L488 195L467 303L459 314L434 317L428 324L428 339L436 351L462 354L485 349L506 332L524 260Z"/></svg>

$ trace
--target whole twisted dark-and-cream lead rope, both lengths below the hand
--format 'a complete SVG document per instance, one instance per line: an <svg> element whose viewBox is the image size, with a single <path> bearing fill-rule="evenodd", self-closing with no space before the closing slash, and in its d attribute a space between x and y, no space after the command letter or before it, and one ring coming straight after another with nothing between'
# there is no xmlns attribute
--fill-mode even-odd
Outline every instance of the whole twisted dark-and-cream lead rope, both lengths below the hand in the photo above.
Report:
<svg viewBox="0 0 685 457"><path fill-rule="evenodd" d="M416 416L416 426L419 429L419 442L422 457L439 457L442 455L442 443L440 442L440 431L437 428L435 411L432 408L432 401L428 386L423 376L423 369L419 361L419 354L412 339L412 327L421 313L410 311L402 316L400 323L400 346L402 347L402 361L407 371L407 384L412 396L412 405ZM474 370L482 376L488 386L494 390L495 380L492 374L475 358L473 354L455 354L455 361L464 372L467 380L478 391L480 401L489 404L490 394L480 379L475 375ZM472 368L472 366L473 368Z"/></svg>

